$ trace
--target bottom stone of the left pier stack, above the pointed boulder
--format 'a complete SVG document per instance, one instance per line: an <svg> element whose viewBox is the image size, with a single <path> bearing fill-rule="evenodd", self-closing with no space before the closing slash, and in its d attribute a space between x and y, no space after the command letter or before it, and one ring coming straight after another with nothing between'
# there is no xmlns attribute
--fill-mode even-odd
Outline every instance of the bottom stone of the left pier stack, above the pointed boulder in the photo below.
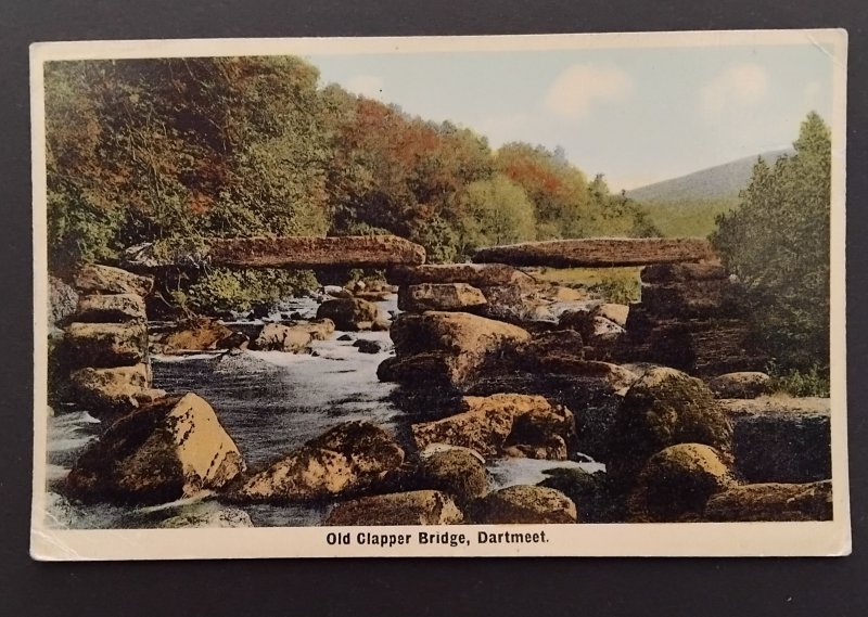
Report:
<svg viewBox="0 0 868 617"><path fill-rule="evenodd" d="M128 413L166 396L151 387L144 363L112 369L79 369L69 375L71 397L95 416Z"/></svg>

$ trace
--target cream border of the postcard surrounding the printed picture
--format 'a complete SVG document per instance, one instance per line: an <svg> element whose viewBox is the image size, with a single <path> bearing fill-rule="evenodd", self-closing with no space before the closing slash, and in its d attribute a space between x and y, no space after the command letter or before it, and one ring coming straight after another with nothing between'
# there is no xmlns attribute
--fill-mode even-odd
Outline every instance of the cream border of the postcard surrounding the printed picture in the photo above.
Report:
<svg viewBox="0 0 868 617"><path fill-rule="evenodd" d="M413 53L706 46L786 46L830 51L833 68L831 219L831 400L834 518L809 523L579 524L252 529L58 530L44 524L47 446L48 259L42 65L60 60ZM30 46L34 188L34 497L30 555L42 561L320 556L800 556L851 552L846 445L845 152L847 35L842 29L638 34L42 42ZM545 544L332 547L331 531L376 534L545 530Z"/></svg>

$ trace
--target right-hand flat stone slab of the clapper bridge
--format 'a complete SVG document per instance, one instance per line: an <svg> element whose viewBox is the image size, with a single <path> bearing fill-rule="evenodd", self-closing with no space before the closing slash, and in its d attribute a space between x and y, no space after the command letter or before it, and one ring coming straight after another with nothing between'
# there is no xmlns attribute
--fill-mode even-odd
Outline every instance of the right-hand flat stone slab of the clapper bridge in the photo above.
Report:
<svg viewBox="0 0 868 617"><path fill-rule="evenodd" d="M551 268L614 268L714 260L711 243L702 237L588 237L522 242L481 248L476 263L547 266Z"/></svg>

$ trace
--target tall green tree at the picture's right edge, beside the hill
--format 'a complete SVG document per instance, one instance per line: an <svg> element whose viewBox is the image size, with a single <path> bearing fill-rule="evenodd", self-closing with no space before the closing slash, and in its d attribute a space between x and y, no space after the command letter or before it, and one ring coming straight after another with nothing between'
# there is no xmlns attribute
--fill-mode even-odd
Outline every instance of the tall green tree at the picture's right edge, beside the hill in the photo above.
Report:
<svg viewBox="0 0 868 617"><path fill-rule="evenodd" d="M807 116L793 145L774 167L757 160L712 241L745 284L776 365L828 374L831 138L819 115Z"/></svg>

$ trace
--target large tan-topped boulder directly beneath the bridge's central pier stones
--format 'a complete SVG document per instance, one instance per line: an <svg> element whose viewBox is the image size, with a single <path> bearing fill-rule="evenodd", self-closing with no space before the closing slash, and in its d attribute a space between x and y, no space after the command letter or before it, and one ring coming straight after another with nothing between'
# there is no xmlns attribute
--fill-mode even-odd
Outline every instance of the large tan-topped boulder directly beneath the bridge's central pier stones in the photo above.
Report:
<svg viewBox="0 0 868 617"><path fill-rule="evenodd" d="M396 359L381 378L419 384L445 383L457 389L478 376L486 360L531 338L515 325L465 312L400 314L393 322Z"/></svg>

